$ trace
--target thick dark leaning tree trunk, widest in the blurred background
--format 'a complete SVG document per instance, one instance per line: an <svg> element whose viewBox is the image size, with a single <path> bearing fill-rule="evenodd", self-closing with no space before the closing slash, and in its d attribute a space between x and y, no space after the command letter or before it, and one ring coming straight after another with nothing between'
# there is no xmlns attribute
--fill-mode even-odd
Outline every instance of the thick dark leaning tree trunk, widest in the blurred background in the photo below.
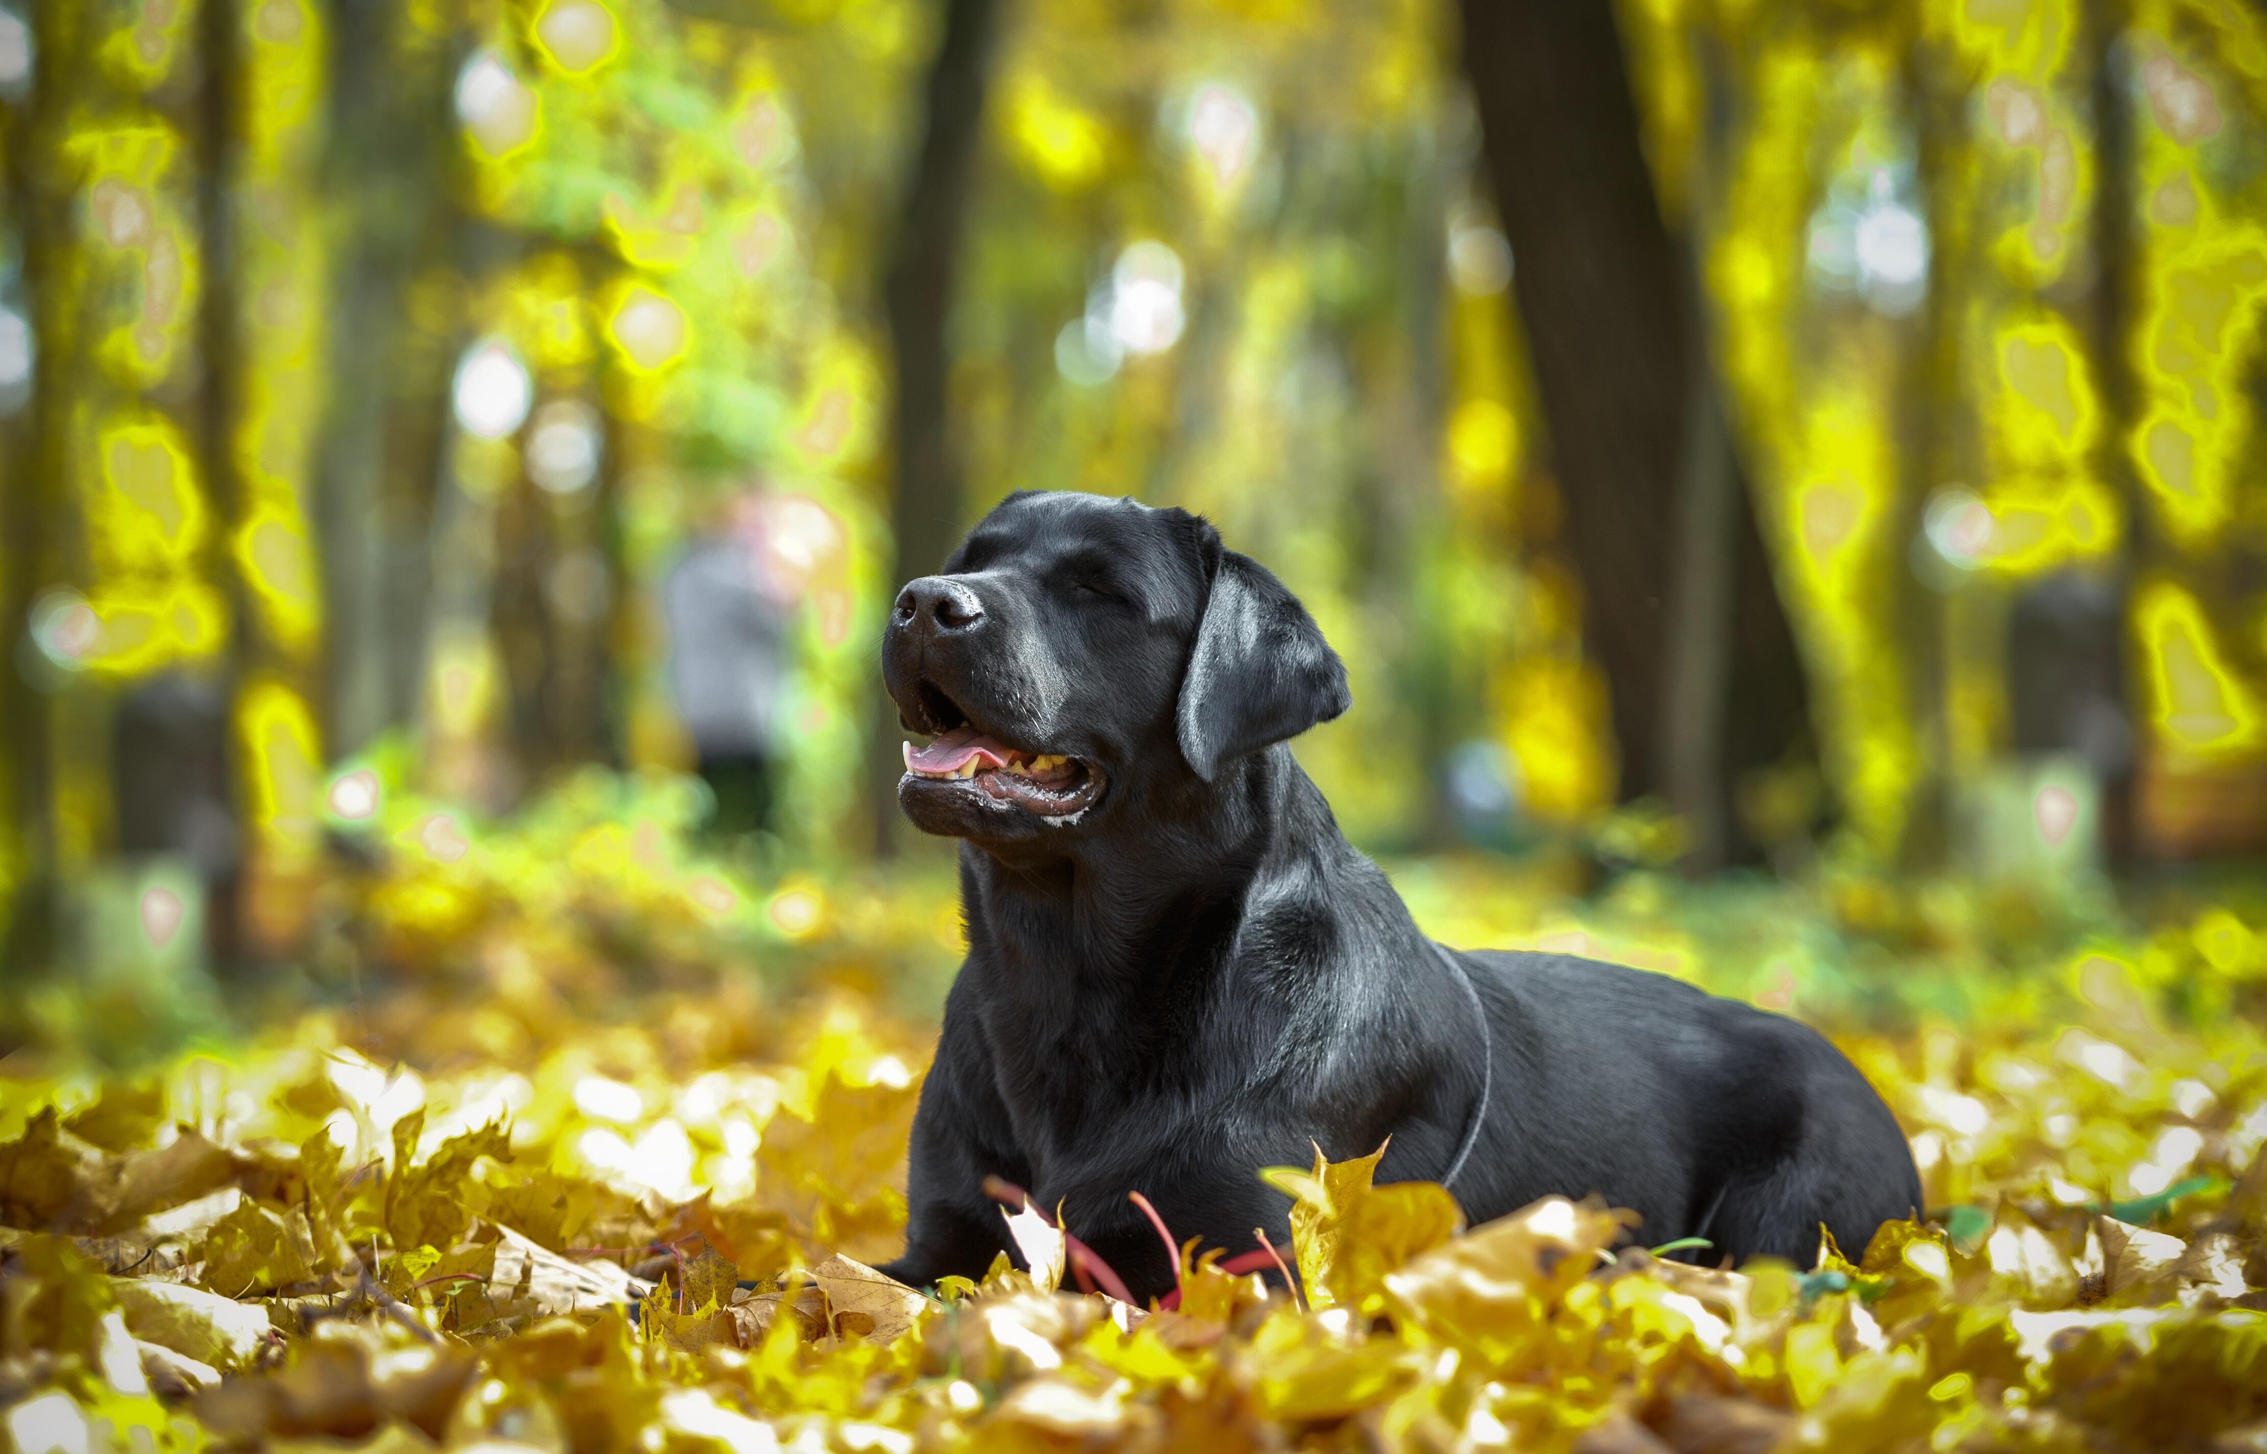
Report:
<svg viewBox="0 0 2267 1454"><path fill-rule="evenodd" d="M1709 417L1698 299L1655 202L1612 7L1460 9L1621 795L1675 786L1707 861L1725 852L1737 777L1802 741L1807 693L1732 442ZM1689 668L1678 700L1671 661Z"/></svg>

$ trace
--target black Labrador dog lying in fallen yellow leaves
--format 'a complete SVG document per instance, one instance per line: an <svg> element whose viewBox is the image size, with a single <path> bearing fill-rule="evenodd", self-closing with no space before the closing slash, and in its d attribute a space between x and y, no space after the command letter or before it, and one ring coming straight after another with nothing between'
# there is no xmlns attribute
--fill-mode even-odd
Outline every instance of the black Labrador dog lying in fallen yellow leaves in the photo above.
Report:
<svg viewBox="0 0 2267 1454"><path fill-rule="evenodd" d="M961 838L968 960L914 1121L911 1284L1007 1246L984 1178L1061 1205L1138 1298L1174 1237L1281 1239L1254 1171L1367 1155L1474 1223L1596 1191L1653 1243L1809 1264L1920 1205L1888 1107L1807 1026L1659 974L1451 951L1285 738L1349 704L1306 607L1181 510L1018 494L898 596L898 799Z"/></svg>

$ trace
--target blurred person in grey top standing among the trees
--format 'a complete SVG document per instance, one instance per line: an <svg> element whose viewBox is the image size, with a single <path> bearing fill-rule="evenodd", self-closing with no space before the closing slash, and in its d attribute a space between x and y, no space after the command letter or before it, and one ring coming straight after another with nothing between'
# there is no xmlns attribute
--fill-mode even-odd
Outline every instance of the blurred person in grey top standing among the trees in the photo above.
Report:
<svg viewBox="0 0 2267 1454"><path fill-rule="evenodd" d="M662 580L669 682L714 795L707 829L771 829L787 614L796 584L778 566L771 496L735 496L687 541Z"/></svg>

